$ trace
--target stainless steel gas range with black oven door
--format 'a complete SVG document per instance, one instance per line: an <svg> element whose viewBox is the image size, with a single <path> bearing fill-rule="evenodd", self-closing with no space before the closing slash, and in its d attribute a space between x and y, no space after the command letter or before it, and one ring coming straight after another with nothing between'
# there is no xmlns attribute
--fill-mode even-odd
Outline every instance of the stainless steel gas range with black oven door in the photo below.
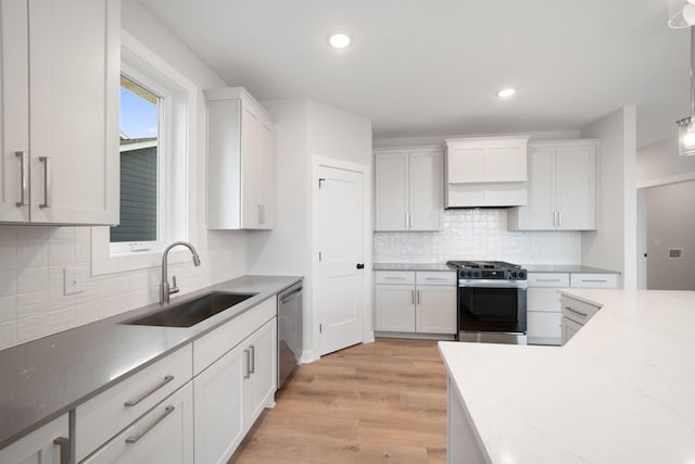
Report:
<svg viewBox="0 0 695 464"><path fill-rule="evenodd" d="M459 340L526 344L526 269L503 261L446 264L458 275Z"/></svg>

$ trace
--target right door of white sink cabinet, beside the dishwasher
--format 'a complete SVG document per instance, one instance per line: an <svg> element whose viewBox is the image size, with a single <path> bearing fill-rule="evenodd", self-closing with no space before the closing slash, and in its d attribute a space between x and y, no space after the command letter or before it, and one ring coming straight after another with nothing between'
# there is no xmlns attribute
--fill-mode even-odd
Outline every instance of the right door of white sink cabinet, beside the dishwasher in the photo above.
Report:
<svg viewBox="0 0 695 464"><path fill-rule="evenodd" d="M274 402L277 383L277 349L275 318L244 341L250 352L251 376L244 381L244 429L251 428L267 405Z"/></svg>

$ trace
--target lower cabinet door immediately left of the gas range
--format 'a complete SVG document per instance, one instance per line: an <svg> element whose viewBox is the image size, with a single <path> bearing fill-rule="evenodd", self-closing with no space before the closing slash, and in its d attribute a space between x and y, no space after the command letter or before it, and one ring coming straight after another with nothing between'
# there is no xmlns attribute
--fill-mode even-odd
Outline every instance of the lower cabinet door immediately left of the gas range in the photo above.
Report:
<svg viewBox="0 0 695 464"><path fill-rule="evenodd" d="M415 328L420 334L456 334L456 287L419 286Z"/></svg>

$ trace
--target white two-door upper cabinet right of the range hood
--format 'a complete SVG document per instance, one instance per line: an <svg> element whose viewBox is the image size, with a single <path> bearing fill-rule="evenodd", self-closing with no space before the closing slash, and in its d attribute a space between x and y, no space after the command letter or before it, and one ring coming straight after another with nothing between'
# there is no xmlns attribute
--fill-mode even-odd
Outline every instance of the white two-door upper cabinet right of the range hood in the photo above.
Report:
<svg viewBox="0 0 695 464"><path fill-rule="evenodd" d="M596 141L529 146L529 201L509 210L511 230L596 228Z"/></svg>

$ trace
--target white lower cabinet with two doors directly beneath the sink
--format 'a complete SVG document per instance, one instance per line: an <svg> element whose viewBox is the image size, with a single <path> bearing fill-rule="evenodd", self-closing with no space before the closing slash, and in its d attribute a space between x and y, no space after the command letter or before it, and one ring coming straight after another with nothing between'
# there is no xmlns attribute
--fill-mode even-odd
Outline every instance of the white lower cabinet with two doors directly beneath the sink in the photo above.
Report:
<svg viewBox="0 0 695 464"><path fill-rule="evenodd" d="M226 463L277 389L277 308L268 299L193 342L195 463Z"/></svg>

